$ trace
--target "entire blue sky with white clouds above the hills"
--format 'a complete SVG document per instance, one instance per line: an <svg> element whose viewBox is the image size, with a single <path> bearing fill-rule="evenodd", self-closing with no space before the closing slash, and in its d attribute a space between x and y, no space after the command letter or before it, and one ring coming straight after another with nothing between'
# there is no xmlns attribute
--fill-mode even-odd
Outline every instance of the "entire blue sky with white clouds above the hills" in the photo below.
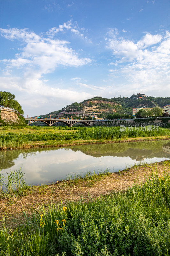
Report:
<svg viewBox="0 0 170 256"><path fill-rule="evenodd" d="M94 96L169 97L169 0L1 0L0 90L24 116Z"/></svg>

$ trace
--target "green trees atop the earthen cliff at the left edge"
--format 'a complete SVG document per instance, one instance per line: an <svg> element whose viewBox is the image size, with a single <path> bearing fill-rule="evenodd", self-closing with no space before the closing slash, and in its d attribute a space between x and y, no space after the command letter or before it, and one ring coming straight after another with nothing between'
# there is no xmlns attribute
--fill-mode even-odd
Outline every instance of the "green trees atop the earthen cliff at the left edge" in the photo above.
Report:
<svg viewBox="0 0 170 256"><path fill-rule="evenodd" d="M24 114L21 105L15 100L15 95L10 92L0 91L0 105L7 108L14 108L20 114Z"/></svg>

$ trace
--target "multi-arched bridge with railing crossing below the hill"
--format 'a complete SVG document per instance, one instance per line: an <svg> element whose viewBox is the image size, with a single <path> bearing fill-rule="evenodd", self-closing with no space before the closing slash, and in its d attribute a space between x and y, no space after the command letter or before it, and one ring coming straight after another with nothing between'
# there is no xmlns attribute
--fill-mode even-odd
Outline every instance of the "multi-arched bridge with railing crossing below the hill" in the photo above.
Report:
<svg viewBox="0 0 170 256"><path fill-rule="evenodd" d="M52 119L52 118L25 118L25 120L28 120L28 125L32 124L33 122L43 122L47 124L48 126L51 126L52 124L55 124L57 122L62 122L66 124L68 127L72 127L75 123L82 123L85 126L93 126L94 120L82 120L82 119Z"/></svg>

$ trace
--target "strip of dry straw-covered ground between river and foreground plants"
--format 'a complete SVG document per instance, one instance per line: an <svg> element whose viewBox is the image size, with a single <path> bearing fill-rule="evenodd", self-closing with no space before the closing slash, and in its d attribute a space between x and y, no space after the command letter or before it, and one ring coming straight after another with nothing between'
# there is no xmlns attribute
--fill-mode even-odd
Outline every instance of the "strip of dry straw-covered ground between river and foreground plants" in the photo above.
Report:
<svg viewBox="0 0 170 256"><path fill-rule="evenodd" d="M32 209L37 209L43 204L64 203L65 201L77 201L95 199L119 190L126 190L135 183L141 183L149 175L170 171L170 161L163 161L143 166L135 166L120 172L110 173L108 176L100 176L94 180L80 179L77 181L61 181L52 185L33 186L25 196L11 199L0 199L0 219L7 216L9 223L24 220L22 210L29 215Z"/></svg>

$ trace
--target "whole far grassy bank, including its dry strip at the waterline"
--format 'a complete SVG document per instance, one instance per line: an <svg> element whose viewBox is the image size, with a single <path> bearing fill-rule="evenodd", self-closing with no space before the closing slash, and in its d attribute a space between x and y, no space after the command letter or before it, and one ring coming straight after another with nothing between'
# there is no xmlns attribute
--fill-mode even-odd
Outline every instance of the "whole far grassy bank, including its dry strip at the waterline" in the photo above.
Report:
<svg viewBox="0 0 170 256"><path fill-rule="evenodd" d="M158 131L153 131L153 126L151 127L151 130L146 128L146 131L126 129L123 132L119 127L1 127L0 149L109 143L137 138L170 138L170 130L158 127Z"/></svg>

